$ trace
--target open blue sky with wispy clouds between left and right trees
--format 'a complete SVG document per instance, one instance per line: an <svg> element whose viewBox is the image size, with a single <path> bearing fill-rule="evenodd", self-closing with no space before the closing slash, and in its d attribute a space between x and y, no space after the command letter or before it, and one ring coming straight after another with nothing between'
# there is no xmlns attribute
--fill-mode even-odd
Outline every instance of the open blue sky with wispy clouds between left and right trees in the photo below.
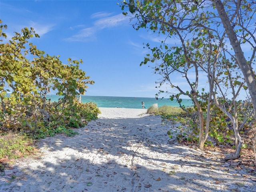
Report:
<svg viewBox="0 0 256 192"><path fill-rule="evenodd" d="M83 60L80 68L95 81L86 95L155 97L151 67L140 66L143 43L158 42L156 34L136 31L122 14L118 0L1 0L0 18L8 37L33 27L40 38L31 41L49 55Z"/></svg>

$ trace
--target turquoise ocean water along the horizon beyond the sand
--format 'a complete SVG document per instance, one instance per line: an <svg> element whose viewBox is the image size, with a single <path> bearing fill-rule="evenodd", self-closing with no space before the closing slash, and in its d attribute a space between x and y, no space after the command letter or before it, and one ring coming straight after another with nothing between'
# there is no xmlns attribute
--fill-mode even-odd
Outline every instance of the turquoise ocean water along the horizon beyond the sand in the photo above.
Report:
<svg viewBox="0 0 256 192"><path fill-rule="evenodd" d="M60 96L50 95L51 101L57 101ZM144 97L114 97L114 96L81 96L81 102L93 102L96 103L98 107L110 107L110 108L134 108L141 109L141 102L145 103L145 108L157 104L158 107L161 106L179 106L176 100L169 100L168 98L156 99L156 98L144 98ZM182 105L192 106L192 101L190 99L182 99Z"/></svg>

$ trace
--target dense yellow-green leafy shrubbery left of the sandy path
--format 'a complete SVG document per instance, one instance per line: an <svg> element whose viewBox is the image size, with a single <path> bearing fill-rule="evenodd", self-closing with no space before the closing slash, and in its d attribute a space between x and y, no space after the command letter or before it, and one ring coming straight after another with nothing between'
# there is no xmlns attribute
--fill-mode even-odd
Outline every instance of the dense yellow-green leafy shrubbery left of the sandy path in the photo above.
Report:
<svg viewBox="0 0 256 192"><path fill-rule="evenodd" d="M96 104L78 102L87 84L93 84L79 68L82 60L63 64L29 42L38 37L33 28L23 28L9 38L0 20L0 131L23 132L34 138L56 133L72 135L70 128L97 118ZM32 60L30 60L32 58ZM61 98L51 102L50 91Z"/></svg>

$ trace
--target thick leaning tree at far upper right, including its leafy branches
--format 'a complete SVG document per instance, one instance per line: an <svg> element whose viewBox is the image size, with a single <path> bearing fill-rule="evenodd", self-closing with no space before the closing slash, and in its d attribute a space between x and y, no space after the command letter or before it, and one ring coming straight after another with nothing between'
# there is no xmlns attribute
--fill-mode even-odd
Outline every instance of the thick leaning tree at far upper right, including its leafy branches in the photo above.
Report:
<svg viewBox="0 0 256 192"><path fill-rule="evenodd" d="M218 10L218 17L227 34L228 40L234 49L236 62L244 75L246 85L252 98L254 111L256 111L256 77L252 64L255 62L256 37L255 34L255 8L256 1L232 1L213 0L213 6ZM224 7L225 5L225 7ZM244 51L241 48L245 44L251 48L246 60ZM256 117L256 112L254 112Z"/></svg>

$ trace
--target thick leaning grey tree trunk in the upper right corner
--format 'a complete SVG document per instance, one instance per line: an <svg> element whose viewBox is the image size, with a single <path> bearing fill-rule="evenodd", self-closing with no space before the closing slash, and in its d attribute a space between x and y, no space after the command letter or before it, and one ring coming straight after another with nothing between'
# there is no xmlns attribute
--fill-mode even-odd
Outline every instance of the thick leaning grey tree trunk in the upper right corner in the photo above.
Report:
<svg viewBox="0 0 256 192"><path fill-rule="evenodd" d="M220 0L213 0L213 2L216 6L216 9L218 10L219 17L222 20L223 26L226 30L226 34L230 40L230 44L234 49L238 65L240 66L240 69L244 74L244 78L246 80L246 84L248 86L250 96L252 98L254 116L256 117L256 112L255 112L256 111L256 78L255 78L254 72L252 70L252 67L249 66L246 62L244 53L241 49L240 43L238 42L236 33L234 32L234 29L230 23L230 20L225 12L222 2Z"/></svg>

